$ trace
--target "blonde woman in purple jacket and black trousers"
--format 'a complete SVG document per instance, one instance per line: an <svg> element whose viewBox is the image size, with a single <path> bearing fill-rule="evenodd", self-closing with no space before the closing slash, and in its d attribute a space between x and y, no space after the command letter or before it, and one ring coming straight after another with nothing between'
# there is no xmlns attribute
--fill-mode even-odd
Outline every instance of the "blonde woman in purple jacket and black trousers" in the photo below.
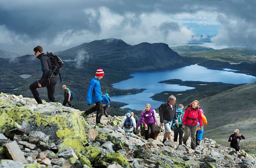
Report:
<svg viewBox="0 0 256 168"><path fill-rule="evenodd" d="M146 107L142 111L141 116L140 116L140 121L145 126L145 140L149 139L149 129L148 129L149 127L151 129L150 138L153 139L154 133L155 133L155 126L157 125L154 111L152 109L150 109L150 107L151 107L150 104L146 104Z"/></svg>

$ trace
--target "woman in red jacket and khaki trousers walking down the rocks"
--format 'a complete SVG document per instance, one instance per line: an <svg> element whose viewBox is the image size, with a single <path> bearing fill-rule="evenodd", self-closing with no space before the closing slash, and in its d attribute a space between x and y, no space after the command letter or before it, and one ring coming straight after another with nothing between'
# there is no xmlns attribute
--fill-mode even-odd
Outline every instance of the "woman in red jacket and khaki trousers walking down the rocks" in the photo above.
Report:
<svg viewBox="0 0 256 168"><path fill-rule="evenodd" d="M191 149L196 149L196 130L197 130L197 119L200 124L200 129L203 128L203 120L201 112L199 112L198 109L199 102L198 100L194 100L192 104L190 104L190 107L186 109L182 122L182 127L184 128L184 137L183 137L183 143L187 146L187 140L191 132Z"/></svg>

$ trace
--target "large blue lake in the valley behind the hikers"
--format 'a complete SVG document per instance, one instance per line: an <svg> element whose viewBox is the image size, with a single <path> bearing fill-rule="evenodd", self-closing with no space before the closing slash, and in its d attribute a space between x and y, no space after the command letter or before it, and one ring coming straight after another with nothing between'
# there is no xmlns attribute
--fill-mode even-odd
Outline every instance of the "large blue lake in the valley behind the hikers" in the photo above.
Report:
<svg viewBox="0 0 256 168"><path fill-rule="evenodd" d="M131 74L131 76L131 79L112 84L113 87L118 89L145 88L147 90L138 94L112 96L111 100L128 103L129 105L121 108L131 108L135 110L143 110L146 103L151 104L151 108L159 107L162 102L150 98L156 93L194 89L194 87L158 83L164 80L180 79L182 81L223 82L231 84L251 83L256 81L256 77L252 75L234 73L226 70L210 70L197 64L165 71L138 72Z"/></svg>

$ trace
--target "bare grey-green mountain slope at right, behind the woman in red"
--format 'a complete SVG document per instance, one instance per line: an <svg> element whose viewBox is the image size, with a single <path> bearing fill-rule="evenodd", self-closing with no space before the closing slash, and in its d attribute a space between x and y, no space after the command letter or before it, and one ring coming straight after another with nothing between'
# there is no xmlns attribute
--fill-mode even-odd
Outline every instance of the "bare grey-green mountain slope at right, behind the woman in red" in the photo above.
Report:
<svg viewBox="0 0 256 168"><path fill-rule="evenodd" d="M252 139L256 137L255 87L256 83L241 85L199 100L208 121L205 136L228 146L229 135L239 129L246 139L251 139L241 145L255 153L256 139Z"/></svg>

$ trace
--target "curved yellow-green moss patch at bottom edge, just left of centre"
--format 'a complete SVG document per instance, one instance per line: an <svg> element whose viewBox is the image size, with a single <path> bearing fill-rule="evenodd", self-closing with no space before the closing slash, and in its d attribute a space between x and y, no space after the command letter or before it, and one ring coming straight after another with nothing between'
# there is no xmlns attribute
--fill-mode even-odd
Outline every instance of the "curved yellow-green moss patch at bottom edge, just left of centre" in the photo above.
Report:
<svg viewBox="0 0 256 168"><path fill-rule="evenodd" d="M130 167L128 161L120 153L109 153L108 152L108 153L106 153L103 160L108 162L108 163L112 163L113 161L116 161L118 164L120 164L123 167Z"/></svg>

